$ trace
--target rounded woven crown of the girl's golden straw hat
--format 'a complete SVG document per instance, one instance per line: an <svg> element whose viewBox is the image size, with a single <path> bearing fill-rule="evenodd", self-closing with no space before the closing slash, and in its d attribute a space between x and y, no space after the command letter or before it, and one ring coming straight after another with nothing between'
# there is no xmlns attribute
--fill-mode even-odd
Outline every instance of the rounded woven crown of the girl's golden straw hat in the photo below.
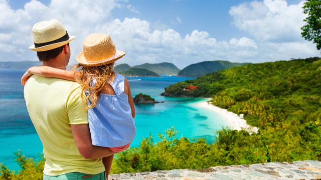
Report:
<svg viewBox="0 0 321 180"><path fill-rule="evenodd" d="M87 61L106 59L113 56L115 52L115 44L108 34L92 33L83 42L83 53Z"/></svg>

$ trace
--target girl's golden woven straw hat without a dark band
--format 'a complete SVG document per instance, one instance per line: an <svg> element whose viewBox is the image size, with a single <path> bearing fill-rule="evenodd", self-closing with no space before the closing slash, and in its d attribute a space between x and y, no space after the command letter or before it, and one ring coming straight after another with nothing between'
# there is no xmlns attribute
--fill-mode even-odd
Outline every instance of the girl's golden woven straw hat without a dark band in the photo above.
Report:
<svg viewBox="0 0 321 180"><path fill-rule="evenodd" d="M87 66L98 66L114 62L126 53L115 48L115 44L108 34L92 33L83 42L77 62Z"/></svg>

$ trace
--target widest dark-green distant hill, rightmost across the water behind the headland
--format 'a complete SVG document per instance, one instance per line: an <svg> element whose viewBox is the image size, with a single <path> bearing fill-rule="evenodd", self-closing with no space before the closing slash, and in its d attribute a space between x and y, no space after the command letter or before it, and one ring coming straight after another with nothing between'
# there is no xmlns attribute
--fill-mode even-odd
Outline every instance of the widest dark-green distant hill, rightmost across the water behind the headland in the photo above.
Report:
<svg viewBox="0 0 321 180"><path fill-rule="evenodd" d="M221 69L226 69L235 66L241 66L249 63L238 63L230 62L226 60L213 60L213 61L203 61L195 64L188 65L183 68L178 75L186 77L197 77L203 76L210 72L216 72Z"/></svg>

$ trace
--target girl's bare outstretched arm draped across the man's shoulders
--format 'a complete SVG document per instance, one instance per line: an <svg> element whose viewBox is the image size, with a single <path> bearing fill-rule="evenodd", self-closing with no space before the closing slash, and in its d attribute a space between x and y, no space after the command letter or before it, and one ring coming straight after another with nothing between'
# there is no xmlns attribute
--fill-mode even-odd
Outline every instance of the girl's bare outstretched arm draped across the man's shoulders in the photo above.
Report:
<svg viewBox="0 0 321 180"><path fill-rule="evenodd" d="M33 66L30 67L22 76L21 83L25 84L28 78L33 74L75 81L74 76L77 75L77 73L78 72L58 69L50 66Z"/></svg>

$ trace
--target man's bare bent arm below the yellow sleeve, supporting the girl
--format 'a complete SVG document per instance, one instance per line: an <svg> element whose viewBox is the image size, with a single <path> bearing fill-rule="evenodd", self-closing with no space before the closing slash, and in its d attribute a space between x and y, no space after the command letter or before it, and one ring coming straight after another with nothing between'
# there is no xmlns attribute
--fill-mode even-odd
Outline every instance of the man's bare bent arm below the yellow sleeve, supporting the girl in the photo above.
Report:
<svg viewBox="0 0 321 180"><path fill-rule="evenodd" d="M108 147L92 145L88 124L71 124L72 135L80 154L89 159L98 159L112 155Z"/></svg>

